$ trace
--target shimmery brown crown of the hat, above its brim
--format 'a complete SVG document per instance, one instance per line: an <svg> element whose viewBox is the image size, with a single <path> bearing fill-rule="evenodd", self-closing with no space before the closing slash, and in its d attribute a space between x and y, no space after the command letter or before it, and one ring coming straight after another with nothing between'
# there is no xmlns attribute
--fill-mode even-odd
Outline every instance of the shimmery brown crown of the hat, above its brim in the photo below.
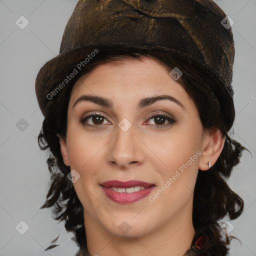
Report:
<svg viewBox="0 0 256 256"><path fill-rule="evenodd" d="M232 94L234 42L225 17L212 0L79 0L60 53L88 45L164 48L203 62Z"/></svg>

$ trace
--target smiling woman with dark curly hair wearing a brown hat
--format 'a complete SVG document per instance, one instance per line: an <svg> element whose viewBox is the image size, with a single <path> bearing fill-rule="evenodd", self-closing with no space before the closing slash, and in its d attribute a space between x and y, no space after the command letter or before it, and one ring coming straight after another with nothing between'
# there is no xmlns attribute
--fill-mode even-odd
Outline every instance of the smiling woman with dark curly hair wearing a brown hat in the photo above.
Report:
<svg viewBox="0 0 256 256"><path fill-rule="evenodd" d="M77 255L226 255L242 199L233 37L210 0L80 0L39 71L51 186ZM225 24L225 25L223 25ZM49 248L54 245L49 246Z"/></svg>

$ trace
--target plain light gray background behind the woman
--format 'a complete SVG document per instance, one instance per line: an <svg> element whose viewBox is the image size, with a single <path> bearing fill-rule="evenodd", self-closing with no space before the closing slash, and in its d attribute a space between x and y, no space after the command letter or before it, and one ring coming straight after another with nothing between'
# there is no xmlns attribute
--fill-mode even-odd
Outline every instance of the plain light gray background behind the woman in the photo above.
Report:
<svg viewBox="0 0 256 256"><path fill-rule="evenodd" d="M58 54L64 27L76 3L0 0L0 256L72 256L78 249L63 222L53 220L50 209L39 209L47 193L49 172L46 152L37 146L43 116L34 92L36 74ZM256 0L216 3L234 20L236 117L231 131L252 154L251 158L248 152L243 153L228 180L245 203L242 215L230 221L234 227L230 234L241 240L241 246L232 240L230 255L252 256L256 255ZM15 23L21 15L29 21L24 29ZM24 234L15 228L21 220L29 226ZM56 243L61 245L43 252L59 233Z"/></svg>

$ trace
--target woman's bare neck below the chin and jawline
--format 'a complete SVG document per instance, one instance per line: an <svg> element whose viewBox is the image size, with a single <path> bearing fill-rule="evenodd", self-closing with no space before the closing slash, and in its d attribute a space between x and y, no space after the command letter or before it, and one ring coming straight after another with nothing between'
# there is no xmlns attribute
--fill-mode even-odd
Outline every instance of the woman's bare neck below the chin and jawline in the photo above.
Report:
<svg viewBox="0 0 256 256"><path fill-rule="evenodd" d="M148 256L151 254L169 256L171 254L172 256L181 256L190 248L194 236L190 209L192 209L192 205L184 207L164 225L140 237L113 235L84 210L88 249L85 255Z"/></svg>

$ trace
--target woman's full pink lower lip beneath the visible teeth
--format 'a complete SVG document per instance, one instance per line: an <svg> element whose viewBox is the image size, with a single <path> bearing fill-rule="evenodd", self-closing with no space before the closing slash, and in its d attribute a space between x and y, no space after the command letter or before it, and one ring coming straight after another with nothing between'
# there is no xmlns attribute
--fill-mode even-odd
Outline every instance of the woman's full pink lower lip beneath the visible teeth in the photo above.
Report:
<svg viewBox="0 0 256 256"><path fill-rule="evenodd" d="M133 193L127 193L127 192L116 192L110 187L109 188L106 188L104 186L101 186L101 187L103 188L107 197L121 204L138 201L144 198L145 196L147 196L154 189L154 186L150 186Z"/></svg>

